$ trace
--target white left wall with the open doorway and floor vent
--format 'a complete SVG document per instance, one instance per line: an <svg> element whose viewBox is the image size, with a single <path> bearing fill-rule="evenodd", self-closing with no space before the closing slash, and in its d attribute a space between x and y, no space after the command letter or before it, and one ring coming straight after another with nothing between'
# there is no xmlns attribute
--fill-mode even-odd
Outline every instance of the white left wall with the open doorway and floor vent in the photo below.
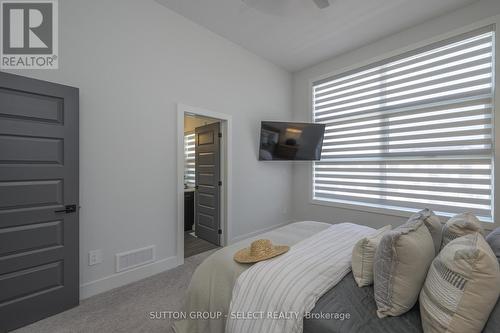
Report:
<svg viewBox="0 0 500 333"><path fill-rule="evenodd" d="M153 0L59 12L60 69L14 73L80 88L82 296L177 262L177 102L232 115L230 237L289 219L291 166L257 161L260 121L291 118L289 73ZM152 244L156 265L113 275L115 253ZM89 267L93 249L104 262Z"/></svg>

